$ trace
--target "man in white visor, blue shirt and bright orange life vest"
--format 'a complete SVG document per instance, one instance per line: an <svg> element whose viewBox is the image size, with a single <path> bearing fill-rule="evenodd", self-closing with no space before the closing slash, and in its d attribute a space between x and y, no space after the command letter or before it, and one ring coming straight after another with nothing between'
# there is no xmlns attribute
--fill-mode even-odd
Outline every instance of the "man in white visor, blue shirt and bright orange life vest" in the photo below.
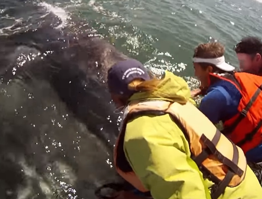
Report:
<svg viewBox="0 0 262 199"><path fill-rule="evenodd" d="M231 129L236 118L241 115L239 109L242 110L243 107L245 109L248 107L247 104L252 104L252 109L261 112L262 117L261 105L252 103L251 99L254 96L249 96L252 95L250 93L253 93L253 90L259 90L262 77L236 72L234 66L225 62L224 52L225 49L219 42L199 44L195 48L193 65L195 76L201 81L201 88L205 88L202 89L202 91L205 90L205 96L201 100L199 110L215 124L222 121L224 130L227 130ZM242 96L245 97L242 98ZM256 99L258 99L257 96ZM262 92L259 94L259 99L262 99ZM249 108L248 111L250 110ZM249 114L256 115L257 113ZM258 119L260 120L261 117L259 116ZM255 143L257 138L254 136L254 138L249 137L248 140L240 138L248 137L247 135L256 128L257 123L251 124L252 120L255 120L253 116L250 121L238 122L234 129L224 132L231 141L243 149L248 161L258 163L262 161L262 155L259 155L262 154L262 142ZM239 131L240 123L243 126L241 132ZM251 129L245 129L245 126L250 126ZM262 178L260 181L262 183Z"/></svg>

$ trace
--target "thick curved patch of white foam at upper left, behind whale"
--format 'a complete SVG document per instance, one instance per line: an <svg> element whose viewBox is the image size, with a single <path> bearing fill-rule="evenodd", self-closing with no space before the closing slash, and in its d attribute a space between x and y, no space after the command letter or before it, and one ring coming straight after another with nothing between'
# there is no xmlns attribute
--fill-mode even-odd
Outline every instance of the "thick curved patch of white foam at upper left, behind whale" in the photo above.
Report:
<svg viewBox="0 0 262 199"><path fill-rule="evenodd" d="M59 19L61 20L61 24L56 27L57 29L64 28L68 25L68 19L71 19L71 17L69 13L65 11L63 8L51 5L46 2L41 2L38 5L44 7L48 13L51 12L57 17L59 17Z"/></svg>

